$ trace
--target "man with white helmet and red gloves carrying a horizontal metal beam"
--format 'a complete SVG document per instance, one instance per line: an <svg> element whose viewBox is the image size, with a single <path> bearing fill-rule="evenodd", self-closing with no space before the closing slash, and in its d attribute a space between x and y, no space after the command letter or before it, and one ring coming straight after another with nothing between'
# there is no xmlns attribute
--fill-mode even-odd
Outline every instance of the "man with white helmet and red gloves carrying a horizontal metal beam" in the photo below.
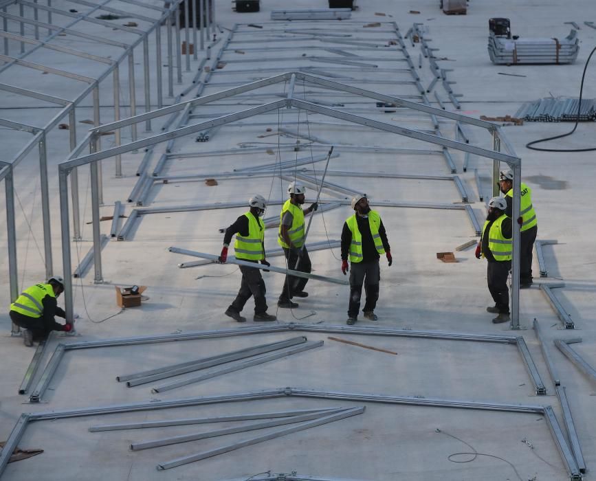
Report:
<svg viewBox="0 0 596 481"><path fill-rule="evenodd" d="M265 223L261 219L267 202L262 195L257 194L249 199L248 205L250 210L225 230L219 262L225 263L228 260L228 247L232 236L236 234L234 242L236 259L261 262L261 264L269 266L271 264L265 259ZM254 317L252 319L261 322L276 320L274 315L267 314L267 301L265 300L267 290L261 271L243 265L240 266L240 271L242 273L240 290L234 302L226 309L225 315L232 317L237 322L246 322L246 317L241 316L240 313L252 295L254 298Z"/></svg>

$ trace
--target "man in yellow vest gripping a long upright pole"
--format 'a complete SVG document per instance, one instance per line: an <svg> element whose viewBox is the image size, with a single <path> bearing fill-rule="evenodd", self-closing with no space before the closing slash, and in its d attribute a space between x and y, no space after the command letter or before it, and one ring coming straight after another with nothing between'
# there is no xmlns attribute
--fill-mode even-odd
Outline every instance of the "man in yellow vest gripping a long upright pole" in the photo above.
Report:
<svg viewBox="0 0 596 481"><path fill-rule="evenodd" d="M306 210L300 205L305 203L305 186L292 182L287 188L289 199L285 201L280 214L279 235L277 242L283 247L287 268L300 272L311 271L311 259L305 244L305 214L310 214L318 209L318 203L313 203ZM292 302L291 298L306 298L306 278L286 276L283 289L279 295L277 305L293 309L298 307L298 302Z"/></svg>

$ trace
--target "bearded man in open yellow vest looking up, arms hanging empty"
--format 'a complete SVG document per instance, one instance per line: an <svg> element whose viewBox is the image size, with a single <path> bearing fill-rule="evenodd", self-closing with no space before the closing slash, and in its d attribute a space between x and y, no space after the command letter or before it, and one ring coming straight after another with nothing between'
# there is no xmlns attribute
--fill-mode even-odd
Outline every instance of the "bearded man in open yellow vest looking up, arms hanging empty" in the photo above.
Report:
<svg viewBox="0 0 596 481"><path fill-rule="evenodd" d="M352 263L350 272L350 302L346 324L355 324L360 311L362 284L366 293L364 317L377 320L375 307L379 299L379 257L385 254L389 265L392 264L391 251L385 227L379 212L371 210L366 195L357 195L351 202L355 213L346 219L342 230L342 272L349 270L348 257Z"/></svg>

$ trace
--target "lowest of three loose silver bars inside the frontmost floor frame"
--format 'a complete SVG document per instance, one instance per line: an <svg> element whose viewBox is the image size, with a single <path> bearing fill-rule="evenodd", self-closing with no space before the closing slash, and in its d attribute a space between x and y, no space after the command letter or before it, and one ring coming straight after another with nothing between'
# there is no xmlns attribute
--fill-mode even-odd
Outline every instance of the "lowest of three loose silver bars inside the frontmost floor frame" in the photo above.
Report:
<svg viewBox="0 0 596 481"><path fill-rule="evenodd" d="M324 416L313 421L307 421L298 426L280 429L269 434L264 434L263 436L257 436L256 438L241 441L240 443L234 443L232 445L227 445L218 449L213 449L212 451L204 451L202 453L194 454L192 456L184 456L184 458L177 458L168 462L161 462L159 463L159 465L157 465L157 469L170 469L177 466L186 465L189 462L195 462L200 461L201 459L211 458L212 456L217 456L218 454L229 453L230 451L240 449L241 447L250 446L257 443L263 443L264 441L278 438L280 436L285 436L286 434L292 434L295 432L303 431L304 429L309 429L310 427L316 427L323 424L332 423L333 421L339 421L340 419L356 416L357 414L362 414L364 412L364 409L364 406L353 407L349 410L345 410L337 414L331 414L329 416Z"/></svg>

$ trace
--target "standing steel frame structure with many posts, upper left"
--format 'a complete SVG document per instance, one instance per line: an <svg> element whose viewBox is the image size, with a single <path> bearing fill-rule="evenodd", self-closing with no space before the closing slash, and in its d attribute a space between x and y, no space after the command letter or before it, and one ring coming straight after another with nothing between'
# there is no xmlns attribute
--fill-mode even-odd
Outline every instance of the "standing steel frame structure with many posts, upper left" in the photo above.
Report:
<svg viewBox="0 0 596 481"><path fill-rule="evenodd" d="M134 115L136 112L136 91L135 91L135 80L134 80L134 51L137 47L142 45L143 51L143 65L144 65L144 107L146 111L151 111L151 88L149 84L149 51L148 51L148 38L153 32L155 32L155 44L157 49L157 64L161 65L161 52L162 52L162 42L161 42L161 27L163 21L166 19L170 19L173 15L177 16L177 12L179 9L179 3L182 0L173 0L170 2L169 8L159 8L155 5L147 5L144 2L140 2L137 0L119 0L124 3L130 3L131 5L138 5L142 6L148 10L153 10L157 12L157 17L152 16L144 16L142 14L137 14L135 12L124 12L123 10L118 10L115 8L111 8L107 5L111 0L102 0L100 3L96 2L89 2L85 0L71 0L74 3L79 3L82 5L89 6L91 10L89 10L85 14L81 13L73 13L69 12L68 10L62 10L59 8L54 8L51 5L51 0L47 0L47 5L42 5L38 3L38 1L27 1L27 0L10 0L10 1L3 1L0 5L0 18L3 19L3 27L4 30L8 30L8 22L18 23L20 25L20 35L12 34L8 31L0 32L0 36L3 38L3 54L0 54L0 60L4 62L4 65L0 67L0 71L5 71L12 65L20 65L21 67L28 67L31 69L37 69L44 71L45 73L54 74L56 76L62 76L66 78L71 78L73 80L78 80L83 82L87 85L87 87L78 94L78 96L74 100L67 100L63 98L58 98L56 96L51 96L46 93L41 93L38 91L34 91L32 89L23 89L21 87L16 87L14 85L7 85L7 84L0 84L0 91L8 91L11 93L16 93L19 96L25 96L27 98L34 98L36 100L42 100L44 102L50 102L52 104L56 104L60 107L63 107L54 118L50 120L45 126L43 127L35 127L35 126L27 126L25 124L19 124L18 122L12 122L10 120L1 120L0 124L3 126L8 126L10 128L15 128L19 131L26 131L32 133L34 137L27 142L23 148L16 154L16 156L10 160L11 167L10 169L3 169L0 172L0 181L5 181L5 190L6 190L6 197L7 197L7 205L6 205L6 216L7 216L7 223L9 226L8 229L8 258L9 258L9 280L10 280L10 300L14 301L19 296L19 287L18 287L18 271L16 265L16 237L14 236L14 186L12 184L12 173L13 169L23 160L29 153L34 150L34 148L38 149L39 152L39 164L40 164L40 181L41 181L41 205L42 205L42 219L43 219L43 238L44 238L44 246L45 246L45 275L46 278L49 278L54 273L54 267L52 262L52 240L51 240L51 233L50 233L50 214L49 214L49 188L48 188L48 180L47 180L47 136L49 133L60 123L65 117L68 117L68 125L69 125L69 145L70 149L74 149L77 145L77 135L76 135L76 107L81 104L83 100L92 96L92 104L93 104L93 123L94 125L100 125L100 97L99 97L99 88L100 84L105 80L108 76L113 76L113 91L114 91L114 118L118 120L120 118L120 98L119 98L119 89L120 89L120 76L119 70L121 64L127 63L128 65L128 76L129 76L129 96L131 99L131 113ZM194 8L197 8L196 5L197 0L192 0L192 4ZM201 0L201 5L203 1ZM8 7L12 5L19 5L19 15L14 15L8 13ZM33 19L28 18L25 16L25 8L31 9L33 12ZM126 27L123 25L118 25L118 23L111 23L109 21L104 21L101 19L97 19L92 14L98 10L104 10L108 12L116 12L120 14L129 14L134 16L136 19L141 21L146 21L150 23L150 26L146 30L137 29ZM39 11L47 13L47 23L39 21ZM67 18L71 18L72 20L69 21L66 25L58 25L57 23L52 23L52 15L54 16L65 16ZM188 19L188 15L186 17ZM91 22L98 25L102 25L104 27L109 27L110 29L118 29L124 32L129 32L132 34L136 34L138 38L133 41L132 43L123 43L119 41L113 41L109 38L109 36L96 36L87 34L83 31L75 30L73 27L78 25L80 22ZM210 25L211 20L206 19L208 25ZM170 22L168 23L168 30L171 30ZM34 38L29 38L25 36L25 28L24 25L33 25L34 26ZM186 36L188 38L188 21L186 22ZM196 38L196 22L193 25L195 30L195 38ZM205 25L203 24L203 30ZM47 36L45 38L40 38L40 29L47 29ZM124 52L120 54L115 60L111 58L107 58L104 56L98 56L89 54L87 52L82 52L77 49L71 49L69 47L64 47L62 45L56 45L52 43L54 38L56 38L60 34L67 34L71 36L76 36L80 38L86 38L92 40L94 42L100 43L102 45L110 45L112 47L118 47L124 49ZM179 25L177 24L177 35L179 36ZM201 31L201 41L203 37L203 32ZM21 45L20 55L11 56L10 55L10 48L9 48L9 41L14 41ZM25 51L25 44L32 45L32 48ZM168 61L168 70L171 71L173 69L173 59L171 56L171 48L172 45L172 38L171 35L168 36L168 52L170 52L169 61ZM37 49L51 49L56 52L60 52L63 54L76 56L79 58L85 58L87 60L96 61L98 63L103 63L108 65L107 69L105 69L98 78L90 78L87 76L82 76L79 74L75 74L72 72L56 69L53 67L49 67L48 65L40 65L36 63L29 62L24 58L35 52ZM202 45L201 45L202 48ZM188 50L188 49L187 49ZM196 58L197 50L195 49L195 58ZM188 53L187 53L187 65L188 65ZM178 64L180 65L180 58L178 58ZM172 76L168 75L169 87L170 91L172 90ZM157 106L163 106L163 95L162 95L162 70L157 69ZM151 131L151 120L146 121L146 131ZM131 135L133 139L137 138L137 125L131 125ZM115 133L115 142L116 144L120 144L120 131ZM8 179L7 176L11 176L11 179ZM116 157L116 176L119 177L121 175L121 166L120 166L120 157ZM73 207L73 223L74 223L74 240L80 240L80 214L78 208L78 176L76 169L71 172L71 194L72 194L72 207ZM10 199L8 199L10 195ZM12 227L12 229L10 228ZM68 276L67 276L68 277ZM19 333L19 327L15 324L12 324L12 334L16 335Z"/></svg>

